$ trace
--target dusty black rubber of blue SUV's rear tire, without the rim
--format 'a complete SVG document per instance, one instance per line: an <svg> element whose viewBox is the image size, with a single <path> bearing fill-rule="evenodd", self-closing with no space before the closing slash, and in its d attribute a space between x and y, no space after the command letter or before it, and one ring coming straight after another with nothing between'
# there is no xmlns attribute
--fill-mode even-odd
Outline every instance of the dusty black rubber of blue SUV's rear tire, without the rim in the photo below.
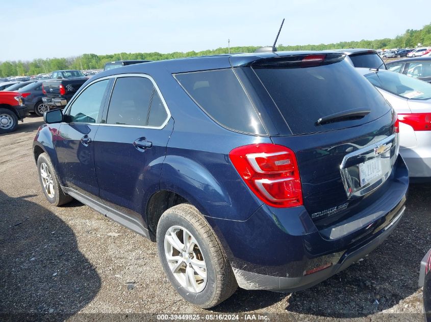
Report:
<svg viewBox="0 0 431 322"><path fill-rule="evenodd" d="M174 277L165 255L165 235L169 228L181 226L187 229L197 241L207 267L207 284L200 292L191 292ZM229 260L213 229L204 216L191 204L182 203L169 208L160 217L157 227L157 249L171 284L188 302L201 308L214 307L238 288ZM186 264L187 265L187 264Z"/></svg>

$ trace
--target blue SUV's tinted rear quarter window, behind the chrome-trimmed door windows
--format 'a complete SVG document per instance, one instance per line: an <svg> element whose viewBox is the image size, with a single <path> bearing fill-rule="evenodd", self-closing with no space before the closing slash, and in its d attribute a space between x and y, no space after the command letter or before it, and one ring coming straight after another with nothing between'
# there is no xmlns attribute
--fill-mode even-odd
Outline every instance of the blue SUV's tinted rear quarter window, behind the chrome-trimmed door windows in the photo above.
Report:
<svg viewBox="0 0 431 322"><path fill-rule="evenodd" d="M175 78L216 122L245 133L266 134L232 69L176 74Z"/></svg>

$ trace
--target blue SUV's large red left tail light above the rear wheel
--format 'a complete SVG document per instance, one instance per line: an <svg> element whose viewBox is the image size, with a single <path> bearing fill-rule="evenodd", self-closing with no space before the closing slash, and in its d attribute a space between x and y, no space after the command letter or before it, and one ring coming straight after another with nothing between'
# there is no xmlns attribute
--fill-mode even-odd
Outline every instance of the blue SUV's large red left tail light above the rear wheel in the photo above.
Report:
<svg viewBox="0 0 431 322"><path fill-rule="evenodd" d="M263 202L285 208L302 205L302 187L295 153L283 145L244 145L229 157L247 186Z"/></svg>

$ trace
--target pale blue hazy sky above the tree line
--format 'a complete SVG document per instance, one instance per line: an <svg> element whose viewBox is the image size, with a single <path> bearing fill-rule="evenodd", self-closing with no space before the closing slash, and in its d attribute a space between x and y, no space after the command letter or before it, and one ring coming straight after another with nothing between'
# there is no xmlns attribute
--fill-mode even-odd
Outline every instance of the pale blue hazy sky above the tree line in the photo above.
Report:
<svg viewBox="0 0 431 322"><path fill-rule="evenodd" d="M392 38L431 22L431 1L7 1L0 61Z"/></svg>

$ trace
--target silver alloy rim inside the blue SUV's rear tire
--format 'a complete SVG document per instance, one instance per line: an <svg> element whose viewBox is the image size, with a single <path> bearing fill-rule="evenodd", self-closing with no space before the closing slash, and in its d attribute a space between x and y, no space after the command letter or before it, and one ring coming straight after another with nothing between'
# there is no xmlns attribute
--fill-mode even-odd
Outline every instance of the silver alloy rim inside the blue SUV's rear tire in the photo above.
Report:
<svg viewBox="0 0 431 322"><path fill-rule="evenodd" d="M170 227L164 240L165 257L175 279L193 293L207 285L207 264L199 244L186 228Z"/></svg>

